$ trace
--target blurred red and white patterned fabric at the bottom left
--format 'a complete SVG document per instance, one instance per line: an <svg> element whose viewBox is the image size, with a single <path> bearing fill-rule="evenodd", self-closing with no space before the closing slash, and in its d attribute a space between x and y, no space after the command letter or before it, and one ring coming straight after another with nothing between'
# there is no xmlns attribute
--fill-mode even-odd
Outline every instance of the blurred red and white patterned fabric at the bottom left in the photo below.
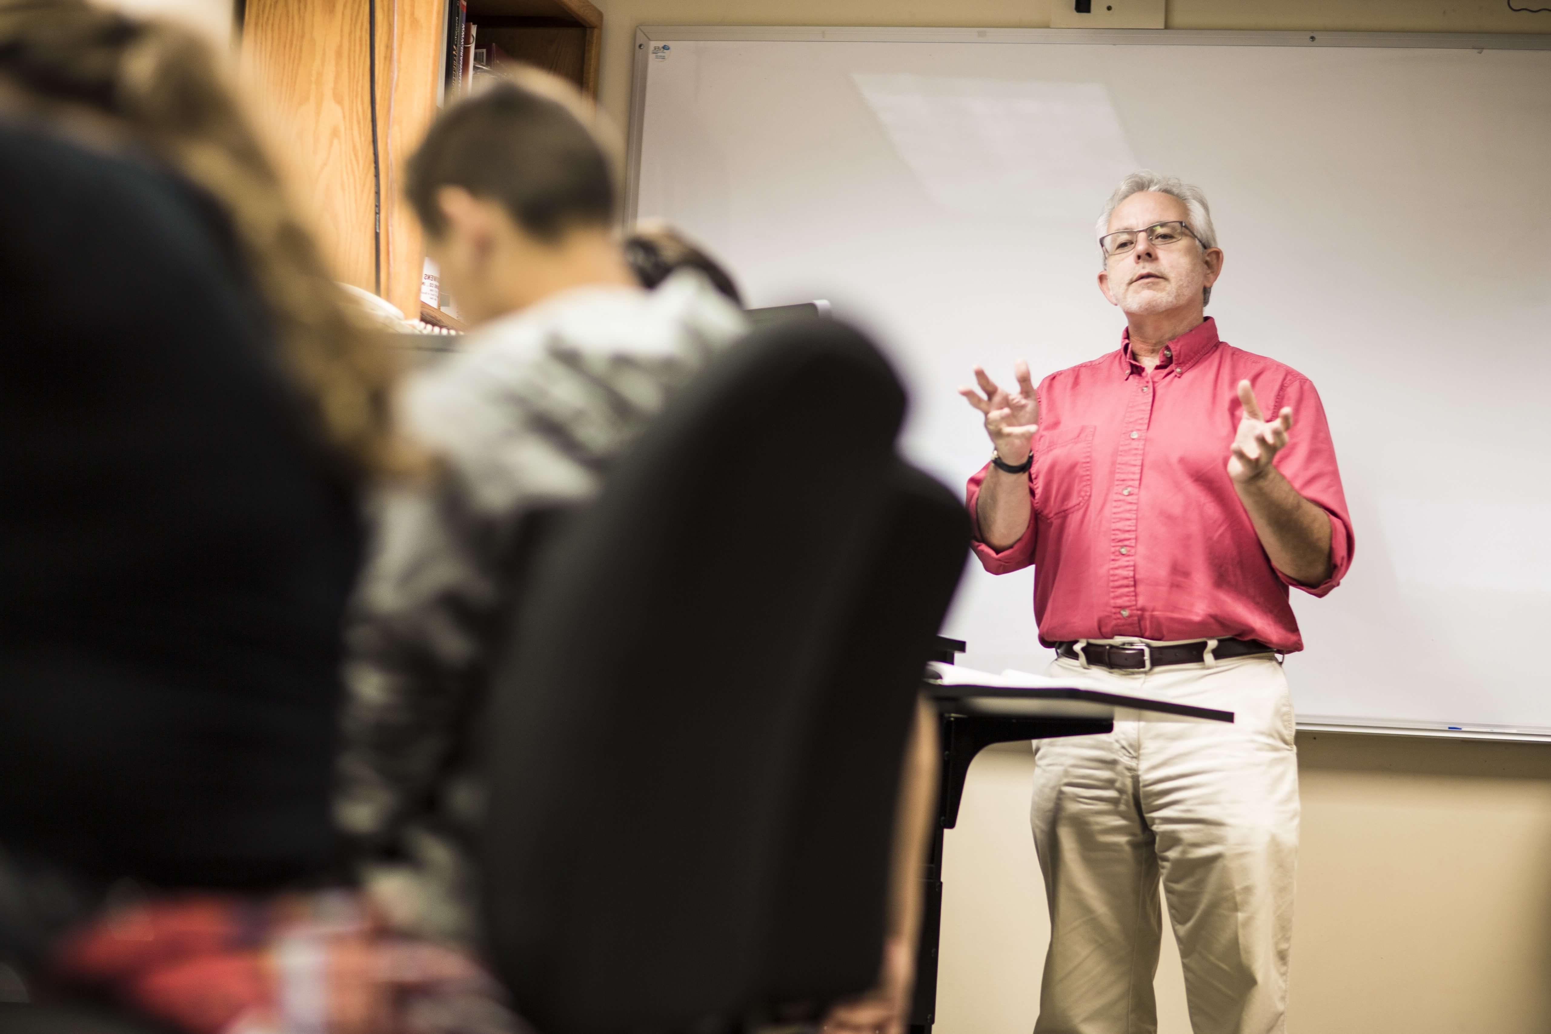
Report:
<svg viewBox="0 0 1551 1034"><path fill-rule="evenodd" d="M53 975L185 1034L524 1029L467 953L388 935L349 891L119 908L65 938Z"/></svg>

